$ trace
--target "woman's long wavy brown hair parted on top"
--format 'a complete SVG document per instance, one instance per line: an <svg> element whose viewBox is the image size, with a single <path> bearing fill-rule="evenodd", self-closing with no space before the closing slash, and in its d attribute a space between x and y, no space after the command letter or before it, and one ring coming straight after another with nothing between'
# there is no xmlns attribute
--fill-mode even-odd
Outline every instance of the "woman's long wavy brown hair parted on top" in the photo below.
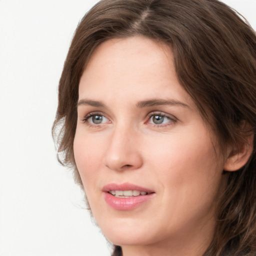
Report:
<svg viewBox="0 0 256 256"><path fill-rule="evenodd" d="M59 160L74 169L78 84L93 50L116 37L144 35L168 44L181 86L194 100L222 149L256 130L256 35L218 0L102 0L80 21L58 88L52 127ZM241 123L246 122L246 130ZM248 162L226 172L214 238L203 256L256 255L256 139ZM121 255L115 246L113 255Z"/></svg>

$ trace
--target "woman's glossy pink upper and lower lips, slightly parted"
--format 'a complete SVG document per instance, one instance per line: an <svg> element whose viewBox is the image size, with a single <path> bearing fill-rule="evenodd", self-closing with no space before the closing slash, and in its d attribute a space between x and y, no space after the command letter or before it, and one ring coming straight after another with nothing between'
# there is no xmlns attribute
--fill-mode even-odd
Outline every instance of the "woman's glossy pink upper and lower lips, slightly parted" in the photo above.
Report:
<svg viewBox="0 0 256 256"><path fill-rule="evenodd" d="M108 193L109 190L138 190L145 191L147 192L147 194L123 198L113 196L112 194ZM102 191L104 192L104 199L106 203L117 210L132 210L137 206L141 205L142 203L150 200L155 195L154 191L148 188L130 183L110 183L105 185L102 188Z"/></svg>

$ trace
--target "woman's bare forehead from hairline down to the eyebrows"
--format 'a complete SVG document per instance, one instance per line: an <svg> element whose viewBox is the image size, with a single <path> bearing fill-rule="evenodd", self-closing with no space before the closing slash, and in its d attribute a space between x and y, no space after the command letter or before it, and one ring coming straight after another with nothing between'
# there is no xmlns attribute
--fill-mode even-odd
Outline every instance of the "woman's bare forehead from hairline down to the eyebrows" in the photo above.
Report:
<svg viewBox="0 0 256 256"><path fill-rule="evenodd" d="M81 76L79 98L101 94L121 97L123 92L125 99L182 96L191 101L177 80L170 47L143 36L101 43Z"/></svg>

